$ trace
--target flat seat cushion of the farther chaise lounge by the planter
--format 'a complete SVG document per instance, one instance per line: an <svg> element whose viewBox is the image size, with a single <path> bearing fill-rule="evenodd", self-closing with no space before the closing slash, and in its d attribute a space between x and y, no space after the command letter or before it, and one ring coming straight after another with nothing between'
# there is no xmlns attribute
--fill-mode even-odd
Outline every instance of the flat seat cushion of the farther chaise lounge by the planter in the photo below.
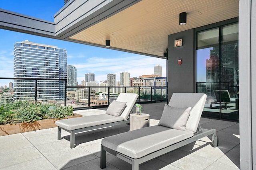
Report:
<svg viewBox="0 0 256 170"><path fill-rule="evenodd" d="M84 117L75 117L71 119L62 119L55 122L55 124L59 127L62 127L66 130L74 130L81 129L84 127L91 127L96 125L103 125L106 123L112 123L116 121L124 120L121 116L112 116L108 114L100 114L100 115L91 115Z"/></svg>

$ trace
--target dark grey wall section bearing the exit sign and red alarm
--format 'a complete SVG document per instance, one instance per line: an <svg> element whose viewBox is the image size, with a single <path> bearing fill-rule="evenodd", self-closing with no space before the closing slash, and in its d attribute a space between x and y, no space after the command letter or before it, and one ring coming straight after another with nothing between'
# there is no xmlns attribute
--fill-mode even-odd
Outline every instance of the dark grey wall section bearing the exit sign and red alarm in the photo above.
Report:
<svg viewBox="0 0 256 170"><path fill-rule="evenodd" d="M183 46L174 47L176 39L182 39ZM194 65L194 29L168 35L168 101L173 93L194 92Z"/></svg>

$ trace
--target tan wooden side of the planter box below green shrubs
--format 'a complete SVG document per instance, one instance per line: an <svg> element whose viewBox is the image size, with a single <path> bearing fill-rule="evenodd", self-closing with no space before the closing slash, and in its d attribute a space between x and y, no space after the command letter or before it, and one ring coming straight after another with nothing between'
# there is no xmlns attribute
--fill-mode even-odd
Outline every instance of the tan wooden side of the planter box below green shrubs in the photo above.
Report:
<svg viewBox="0 0 256 170"><path fill-rule="evenodd" d="M73 116L69 116L64 119L69 119L74 117L82 117L82 115L74 113ZM13 124L0 125L0 136L57 127L55 125L56 120L58 119L44 119L44 120L39 120L35 122L30 122L30 123L13 123Z"/></svg>

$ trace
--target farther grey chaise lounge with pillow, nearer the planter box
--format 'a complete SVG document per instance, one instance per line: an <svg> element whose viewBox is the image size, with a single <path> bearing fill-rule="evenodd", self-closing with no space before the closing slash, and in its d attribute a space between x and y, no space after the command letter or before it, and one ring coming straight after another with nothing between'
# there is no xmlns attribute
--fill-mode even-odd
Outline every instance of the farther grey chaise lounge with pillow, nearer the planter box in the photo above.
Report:
<svg viewBox="0 0 256 170"><path fill-rule="evenodd" d="M55 122L58 126L58 140L61 139L61 129L70 133L70 148L75 147L75 134L122 123L129 123L128 116L134 106L138 94L120 93L106 110L106 114L62 119Z"/></svg>

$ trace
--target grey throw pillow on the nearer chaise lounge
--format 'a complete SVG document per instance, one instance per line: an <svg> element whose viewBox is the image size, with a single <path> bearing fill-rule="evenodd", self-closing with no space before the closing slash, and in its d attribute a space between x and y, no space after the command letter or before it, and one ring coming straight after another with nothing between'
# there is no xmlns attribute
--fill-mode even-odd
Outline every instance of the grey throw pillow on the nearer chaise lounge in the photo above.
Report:
<svg viewBox="0 0 256 170"><path fill-rule="evenodd" d="M191 107L179 108L165 104L159 125L186 131L185 127L188 121L190 110Z"/></svg>

